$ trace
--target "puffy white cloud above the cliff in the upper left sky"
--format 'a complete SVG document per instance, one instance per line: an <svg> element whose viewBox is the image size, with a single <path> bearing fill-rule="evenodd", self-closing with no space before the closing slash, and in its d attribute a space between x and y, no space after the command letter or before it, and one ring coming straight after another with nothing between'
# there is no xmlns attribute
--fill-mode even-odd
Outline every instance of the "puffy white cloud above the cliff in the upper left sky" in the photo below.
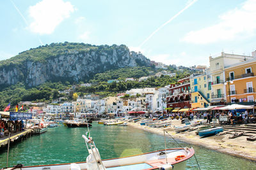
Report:
<svg viewBox="0 0 256 170"><path fill-rule="evenodd" d="M70 2L42 0L34 6L29 6L29 15L33 18L29 28L39 34L51 34L74 10Z"/></svg>

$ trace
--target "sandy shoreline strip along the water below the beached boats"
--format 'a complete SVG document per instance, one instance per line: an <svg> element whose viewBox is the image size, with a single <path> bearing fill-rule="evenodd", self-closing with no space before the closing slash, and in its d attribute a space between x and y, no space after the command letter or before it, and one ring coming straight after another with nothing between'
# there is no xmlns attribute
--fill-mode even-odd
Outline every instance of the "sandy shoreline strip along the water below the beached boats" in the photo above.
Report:
<svg viewBox="0 0 256 170"><path fill-rule="evenodd" d="M163 128L147 127L145 125L132 122L128 122L127 125L136 129L141 129L143 131L164 136ZM179 139L180 141L184 141L191 145L202 146L216 152L226 153L228 155L233 155L256 162L256 143L252 141L247 141L244 143L244 138L239 137L239 141L236 139L228 139L226 138L227 134L222 136L209 136L207 138L200 138L195 134L195 131L176 133L172 127L166 131L172 135L174 139ZM167 136L167 138L170 138L170 136ZM241 142L242 140L243 142ZM205 145L206 143L207 145Z"/></svg>

